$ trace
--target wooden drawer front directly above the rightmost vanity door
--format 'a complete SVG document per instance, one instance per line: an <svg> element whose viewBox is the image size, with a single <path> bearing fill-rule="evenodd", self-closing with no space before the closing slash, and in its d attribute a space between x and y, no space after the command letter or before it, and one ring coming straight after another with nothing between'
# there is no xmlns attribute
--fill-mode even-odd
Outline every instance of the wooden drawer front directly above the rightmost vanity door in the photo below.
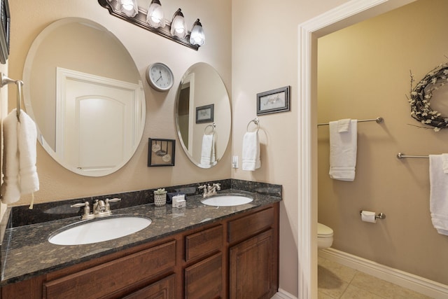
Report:
<svg viewBox="0 0 448 299"><path fill-rule="evenodd" d="M274 225L272 207L229 222L229 242L238 242Z"/></svg>

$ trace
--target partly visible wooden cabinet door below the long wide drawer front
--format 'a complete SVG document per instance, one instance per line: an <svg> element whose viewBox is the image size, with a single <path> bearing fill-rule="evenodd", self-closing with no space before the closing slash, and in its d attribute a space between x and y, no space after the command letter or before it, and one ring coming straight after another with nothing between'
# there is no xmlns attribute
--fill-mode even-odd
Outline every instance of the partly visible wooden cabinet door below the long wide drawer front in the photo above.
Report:
<svg viewBox="0 0 448 299"><path fill-rule="evenodd" d="M172 274L123 299L176 299L176 275Z"/></svg>

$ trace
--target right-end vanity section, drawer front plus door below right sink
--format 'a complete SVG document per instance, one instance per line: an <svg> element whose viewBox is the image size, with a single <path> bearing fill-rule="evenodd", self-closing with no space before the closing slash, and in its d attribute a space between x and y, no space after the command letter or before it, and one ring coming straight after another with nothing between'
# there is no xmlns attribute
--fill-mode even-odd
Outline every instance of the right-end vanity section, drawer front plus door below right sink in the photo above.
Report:
<svg viewBox="0 0 448 299"><path fill-rule="evenodd" d="M272 298L279 286L278 205L229 221L229 298Z"/></svg>

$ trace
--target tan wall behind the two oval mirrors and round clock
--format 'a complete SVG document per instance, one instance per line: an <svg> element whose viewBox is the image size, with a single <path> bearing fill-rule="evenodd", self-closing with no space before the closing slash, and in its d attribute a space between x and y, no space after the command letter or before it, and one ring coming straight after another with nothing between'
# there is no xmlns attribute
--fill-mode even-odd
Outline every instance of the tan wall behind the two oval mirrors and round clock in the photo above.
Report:
<svg viewBox="0 0 448 299"><path fill-rule="evenodd" d="M148 2L149 3L149 2ZM165 18L171 18L181 7L188 26L200 18L207 34L207 43L195 51L147 32L109 15L109 11L90 0L10 1L12 15L11 55L9 72L12 78L22 78L27 51L36 36L51 22L60 18L88 18L108 28L124 44L137 64L146 92L146 127L137 152L118 172L99 178L73 174L59 166L38 145L37 168L41 190L36 202L51 202L69 198L143 190L203 180L226 179L231 176L230 151L222 162L211 169L195 167L176 143L175 167L147 167L148 137L177 139L174 123L174 97L183 73L192 64L207 62L213 66L231 90L231 4L230 1L165 1ZM165 62L172 68L174 88L167 93L155 92L146 83L146 67L153 62ZM25 82L25 84L27 84ZM15 94L9 96L10 109L15 107ZM228 147L230 148L230 146ZM23 198L18 204L27 204Z"/></svg>

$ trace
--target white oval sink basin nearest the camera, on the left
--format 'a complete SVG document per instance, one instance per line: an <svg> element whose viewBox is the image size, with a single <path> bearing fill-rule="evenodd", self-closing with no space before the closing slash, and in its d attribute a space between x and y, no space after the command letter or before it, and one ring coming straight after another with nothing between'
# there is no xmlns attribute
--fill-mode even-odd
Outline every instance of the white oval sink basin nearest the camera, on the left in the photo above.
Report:
<svg viewBox="0 0 448 299"><path fill-rule="evenodd" d="M109 241L143 230L151 219L142 216L118 215L66 225L54 232L48 241L56 245L82 245Z"/></svg>

